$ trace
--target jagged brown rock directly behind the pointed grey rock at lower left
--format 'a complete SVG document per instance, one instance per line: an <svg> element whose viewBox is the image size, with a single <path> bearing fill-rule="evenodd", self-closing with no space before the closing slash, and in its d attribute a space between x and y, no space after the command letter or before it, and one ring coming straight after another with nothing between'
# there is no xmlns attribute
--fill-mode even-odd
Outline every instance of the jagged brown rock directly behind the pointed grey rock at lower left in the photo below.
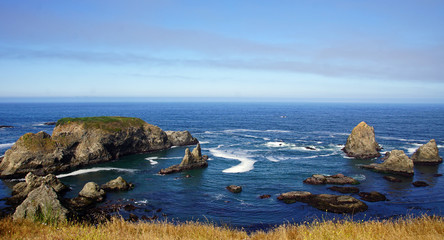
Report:
<svg viewBox="0 0 444 240"><path fill-rule="evenodd" d="M26 175L25 182L20 182L14 185L12 188L12 196L7 199L6 203L9 205L19 205L23 200L26 199L26 196L28 196L32 190L40 187L41 185L52 187L59 195L62 195L64 192L69 190L68 186L60 182L60 180L52 174L41 177L30 172Z"/></svg>

